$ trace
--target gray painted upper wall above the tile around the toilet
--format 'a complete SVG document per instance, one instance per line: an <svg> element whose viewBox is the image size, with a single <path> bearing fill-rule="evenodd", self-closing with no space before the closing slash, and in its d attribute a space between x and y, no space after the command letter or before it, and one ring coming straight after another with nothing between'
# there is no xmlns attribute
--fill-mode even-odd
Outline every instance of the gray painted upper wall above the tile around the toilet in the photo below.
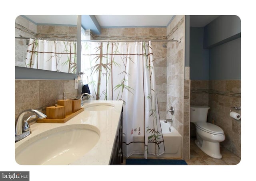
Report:
<svg viewBox="0 0 256 181"><path fill-rule="evenodd" d="M190 28L190 79L241 79L241 22L238 16L219 16L204 28Z"/></svg>

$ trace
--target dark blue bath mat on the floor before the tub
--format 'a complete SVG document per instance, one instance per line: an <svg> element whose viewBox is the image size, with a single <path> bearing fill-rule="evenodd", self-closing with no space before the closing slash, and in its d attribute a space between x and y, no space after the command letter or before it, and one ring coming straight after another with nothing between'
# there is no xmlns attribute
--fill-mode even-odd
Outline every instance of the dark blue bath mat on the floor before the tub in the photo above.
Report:
<svg viewBox="0 0 256 181"><path fill-rule="evenodd" d="M126 159L126 165L188 165L183 159Z"/></svg>

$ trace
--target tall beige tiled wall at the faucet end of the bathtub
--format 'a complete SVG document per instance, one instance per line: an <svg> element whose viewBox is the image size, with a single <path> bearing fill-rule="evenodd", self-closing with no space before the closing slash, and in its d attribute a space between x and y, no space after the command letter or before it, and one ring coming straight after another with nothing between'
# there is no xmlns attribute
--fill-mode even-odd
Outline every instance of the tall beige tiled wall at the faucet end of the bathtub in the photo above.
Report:
<svg viewBox="0 0 256 181"><path fill-rule="evenodd" d="M176 16L167 27L168 39L182 39L181 43L168 42L167 47L167 109L174 108L174 128L183 136L184 94L184 16Z"/></svg>

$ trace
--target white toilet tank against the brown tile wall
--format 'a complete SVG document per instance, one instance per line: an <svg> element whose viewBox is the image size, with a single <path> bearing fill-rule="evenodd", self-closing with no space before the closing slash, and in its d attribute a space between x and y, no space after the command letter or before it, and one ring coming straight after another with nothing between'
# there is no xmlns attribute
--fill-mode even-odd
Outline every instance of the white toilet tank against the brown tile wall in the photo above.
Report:
<svg viewBox="0 0 256 181"><path fill-rule="evenodd" d="M207 122L208 106L190 106L190 122Z"/></svg>

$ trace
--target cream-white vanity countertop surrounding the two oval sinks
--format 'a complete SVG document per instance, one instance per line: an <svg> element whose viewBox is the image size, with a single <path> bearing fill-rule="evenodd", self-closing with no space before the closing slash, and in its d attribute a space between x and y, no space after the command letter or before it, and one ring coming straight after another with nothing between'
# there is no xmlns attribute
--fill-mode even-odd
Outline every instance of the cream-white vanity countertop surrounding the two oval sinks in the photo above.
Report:
<svg viewBox="0 0 256 181"><path fill-rule="evenodd" d="M94 104L112 104L108 110L90 111L84 110L65 123L35 123L30 126L32 133L26 138L15 143L15 148L22 145L26 140L39 135L47 130L72 124L89 124L100 131L100 139L97 144L80 159L69 165L109 165L112 148L114 146L119 119L122 113L123 101L121 100L85 100L84 108Z"/></svg>

